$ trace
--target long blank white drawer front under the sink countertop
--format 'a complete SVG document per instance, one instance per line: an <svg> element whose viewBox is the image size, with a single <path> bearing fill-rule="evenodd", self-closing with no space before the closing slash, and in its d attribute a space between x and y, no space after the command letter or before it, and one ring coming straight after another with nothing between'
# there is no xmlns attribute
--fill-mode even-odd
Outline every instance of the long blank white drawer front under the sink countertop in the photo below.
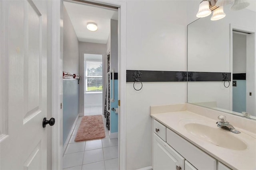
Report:
<svg viewBox="0 0 256 170"><path fill-rule="evenodd" d="M198 170L216 170L217 161L198 147L192 145L170 129L166 131L167 143Z"/></svg>

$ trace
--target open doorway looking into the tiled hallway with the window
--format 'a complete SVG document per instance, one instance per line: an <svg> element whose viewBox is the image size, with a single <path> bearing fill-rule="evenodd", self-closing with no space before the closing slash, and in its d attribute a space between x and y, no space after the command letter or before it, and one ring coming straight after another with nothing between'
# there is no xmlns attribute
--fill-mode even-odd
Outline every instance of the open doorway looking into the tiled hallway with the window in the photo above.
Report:
<svg viewBox="0 0 256 170"><path fill-rule="evenodd" d="M63 140L63 168L118 169L118 8L65 1L63 12L63 68L70 68L78 59L73 66L80 74L79 112ZM86 28L92 22L98 26L96 31ZM70 43L71 39L76 40ZM75 44L78 57L66 55L65 44L67 48ZM70 60L72 57L76 59ZM76 142L84 117L94 115L102 116L105 137Z"/></svg>

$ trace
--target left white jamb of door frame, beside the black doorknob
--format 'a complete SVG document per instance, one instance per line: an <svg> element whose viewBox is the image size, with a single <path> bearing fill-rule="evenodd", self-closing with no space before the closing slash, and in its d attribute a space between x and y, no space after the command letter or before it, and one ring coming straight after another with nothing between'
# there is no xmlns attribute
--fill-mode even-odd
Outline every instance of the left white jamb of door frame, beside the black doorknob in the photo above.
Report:
<svg viewBox="0 0 256 170"><path fill-rule="evenodd" d="M49 0L50 1L50 0ZM48 1L48 2L49 2ZM52 3L52 170L62 169L63 148L63 1Z"/></svg>

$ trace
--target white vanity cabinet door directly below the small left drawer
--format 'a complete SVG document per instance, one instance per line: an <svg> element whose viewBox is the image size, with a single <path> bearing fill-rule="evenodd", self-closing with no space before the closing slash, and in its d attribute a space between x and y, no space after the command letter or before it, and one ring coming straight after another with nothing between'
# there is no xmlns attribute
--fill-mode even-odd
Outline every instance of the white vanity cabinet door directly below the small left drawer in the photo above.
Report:
<svg viewBox="0 0 256 170"><path fill-rule="evenodd" d="M176 170L176 166L184 170L185 159L156 134L153 148L154 170Z"/></svg>

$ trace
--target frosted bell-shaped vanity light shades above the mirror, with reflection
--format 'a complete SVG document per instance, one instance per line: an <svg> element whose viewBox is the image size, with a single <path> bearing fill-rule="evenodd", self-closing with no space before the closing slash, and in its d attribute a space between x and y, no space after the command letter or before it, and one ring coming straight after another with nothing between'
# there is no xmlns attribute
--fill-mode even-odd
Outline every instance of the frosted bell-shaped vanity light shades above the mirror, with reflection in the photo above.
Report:
<svg viewBox="0 0 256 170"><path fill-rule="evenodd" d="M233 4L232 4L233 3ZM244 0L203 0L199 4L199 9L196 14L197 18L203 18L209 16L212 11L212 21L217 21L226 16L223 10L223 6L232 4L231 11L242 10L250 5L249 2Z"/></svg>

